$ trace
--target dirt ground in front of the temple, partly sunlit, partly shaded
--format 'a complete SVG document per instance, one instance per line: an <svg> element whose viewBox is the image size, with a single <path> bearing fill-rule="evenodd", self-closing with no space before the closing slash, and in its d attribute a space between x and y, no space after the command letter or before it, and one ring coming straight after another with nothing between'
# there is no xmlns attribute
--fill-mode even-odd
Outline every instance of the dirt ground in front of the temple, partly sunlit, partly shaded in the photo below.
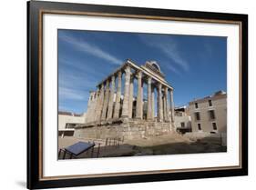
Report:
<svg viewBox="0 0 256 190"><path fill-rule="evenodd" d="M74 145L77 142L95 143L93 149L78 155L77 158L89 157L118 157L118 156L135 156L135 155L175 155L175 154L195 154L195 153L216 153L226 152L227 147L222 146L220 138L205 137L197 140L190 140L181 135L164 135L154 136L145 139L134 139L125 141L108 140L106 139L84 139L75 138L73 136L65 136L58 138L58 146L65 148L69 145ZM63 158L63 153L59 155L59 159L68 159L66 155Z"/></svg>

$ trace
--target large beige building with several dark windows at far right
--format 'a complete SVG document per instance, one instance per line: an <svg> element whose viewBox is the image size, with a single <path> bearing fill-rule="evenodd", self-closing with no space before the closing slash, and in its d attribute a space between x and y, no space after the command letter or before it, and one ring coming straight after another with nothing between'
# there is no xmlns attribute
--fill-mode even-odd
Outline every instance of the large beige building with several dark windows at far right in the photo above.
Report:
<svg viewBox="0 0 256 190"><path fill-rule="evenodd" d="M223 91L189 102L192 132L227 133L227 94Z"/></svg>

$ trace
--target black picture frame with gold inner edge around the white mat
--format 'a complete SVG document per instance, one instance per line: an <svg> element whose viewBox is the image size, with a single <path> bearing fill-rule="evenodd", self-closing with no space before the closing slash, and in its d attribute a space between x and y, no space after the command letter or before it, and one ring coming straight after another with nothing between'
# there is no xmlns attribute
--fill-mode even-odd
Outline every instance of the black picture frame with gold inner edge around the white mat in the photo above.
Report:
<svg viewBox="0 0 256 190"><path fill-rule="evenodd" d="M42 178L42 22L44 13L78 14L99 13L127 17L146 16L178 18L188 21L238 22L241 24L241 167L206 169L200 171L156 172L153 174L108 175L71 178ZM78 14L79 15L79 14ZM146 19L147 19L146 18ZM81 185L111 185L208 177L248 175L248 15L196 11L138 8L110 5L27 2L27 188L70 187Z"/></svg>

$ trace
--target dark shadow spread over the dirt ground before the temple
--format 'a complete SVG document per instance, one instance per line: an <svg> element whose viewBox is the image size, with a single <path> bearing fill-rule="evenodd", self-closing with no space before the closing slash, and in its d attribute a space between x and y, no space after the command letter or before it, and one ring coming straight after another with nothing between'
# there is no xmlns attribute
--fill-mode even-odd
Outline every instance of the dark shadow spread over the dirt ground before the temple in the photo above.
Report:
<svg viewBox="0 0 256 190"><path fill-rule="evenodd" d="M205 137L196 141L172 142L160 145L132 145L130 142L123 145L108 145L99 148L96 145L95 148L78 155L77 158L177 155L218 152L227 152L227 146L221 145L220 139L218 138ZM67 154L66 157L63 158L63 154L60 154L59 159L70 159L70 156Z"/></svg>

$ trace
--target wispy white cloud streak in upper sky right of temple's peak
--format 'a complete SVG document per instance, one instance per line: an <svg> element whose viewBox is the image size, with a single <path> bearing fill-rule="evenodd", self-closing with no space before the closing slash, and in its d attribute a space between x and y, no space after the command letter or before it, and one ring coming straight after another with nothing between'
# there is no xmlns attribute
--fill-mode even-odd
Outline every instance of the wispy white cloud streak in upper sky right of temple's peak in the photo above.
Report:
<svg viewBox="0 0 256 190"><path fill-rule="evenodd" d="M164 55L171 59L173 63L179 65L183 70L189 71L188 61L180 55L176 42L170 37L148 37L139 35L139 39L146 45L158 48Z"/></svg>

